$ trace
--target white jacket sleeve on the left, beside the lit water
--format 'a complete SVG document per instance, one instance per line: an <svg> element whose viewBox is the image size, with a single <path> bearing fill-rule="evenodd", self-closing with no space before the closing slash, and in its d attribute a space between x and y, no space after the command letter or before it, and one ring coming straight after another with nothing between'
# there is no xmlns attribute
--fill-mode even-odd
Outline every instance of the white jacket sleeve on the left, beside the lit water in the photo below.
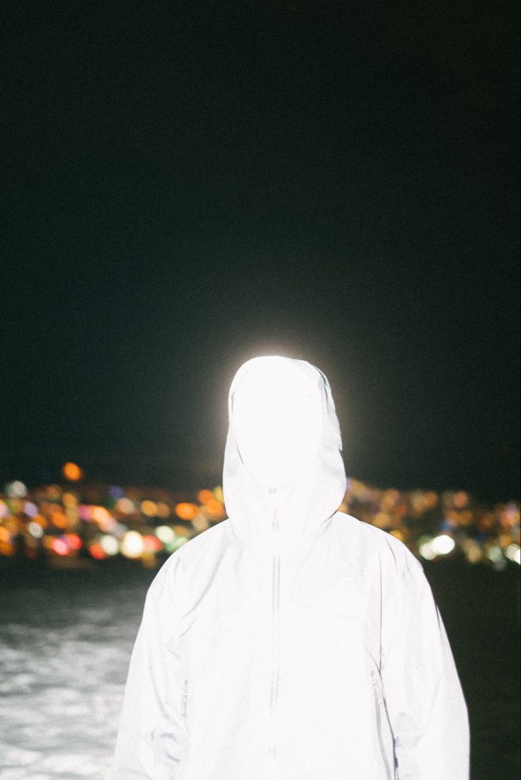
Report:
<svg viewBox="0 0 521 780"><path fill-rule="evenodd" d="M174 554L175 555L175 554ZM175 780L184 747L179 659L169 643L177 615L167 561L147 591L130 657L112 780ZM172 567L173 569L174 567ZM169 580L169 581L168 581Z"/></svg>

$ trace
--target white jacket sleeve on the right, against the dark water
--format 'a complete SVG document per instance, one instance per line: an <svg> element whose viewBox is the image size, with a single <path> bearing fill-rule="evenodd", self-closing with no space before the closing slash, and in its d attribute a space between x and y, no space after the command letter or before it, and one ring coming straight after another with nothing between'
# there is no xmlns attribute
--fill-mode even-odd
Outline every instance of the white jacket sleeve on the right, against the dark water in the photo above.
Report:
<svg viewBox="0 0 521 780"><path fill-rule="evenodd" d="M468 780L467 708L445 626L420 562L402 552L382 582L381 614L381 675L397 776Z"/></svg>

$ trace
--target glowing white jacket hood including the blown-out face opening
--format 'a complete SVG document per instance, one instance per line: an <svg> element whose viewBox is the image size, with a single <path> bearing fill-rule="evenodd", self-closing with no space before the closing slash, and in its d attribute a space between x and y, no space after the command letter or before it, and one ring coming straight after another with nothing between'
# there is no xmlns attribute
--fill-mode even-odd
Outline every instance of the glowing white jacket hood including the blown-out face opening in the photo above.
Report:
<svg viewBox="0 0 521 780"><path fill-rule="evenodd" d="M229 390L223 492L232 531L259 555L297 555L346 492L342 437L328 379L305 360L263 356Z"/></svg>

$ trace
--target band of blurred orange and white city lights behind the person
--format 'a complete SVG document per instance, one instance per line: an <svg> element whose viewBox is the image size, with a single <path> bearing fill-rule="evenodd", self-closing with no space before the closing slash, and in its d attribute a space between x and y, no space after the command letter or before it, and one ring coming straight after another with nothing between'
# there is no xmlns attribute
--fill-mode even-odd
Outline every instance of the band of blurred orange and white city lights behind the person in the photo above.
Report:
<svg viewBox="0 0 521 780"><path fill-rule="evenodd" d="M425 561L459 555L496 571L520 562L516 502L483 507L466 491L380 490L350 478L340 511L391 534ZM158 566L223 519L220 486L168 496L159 489L86 484L30 491L13 480L0 494L0 555L51 566L58 558L60 566L71 567L85 558Z"/></svg>

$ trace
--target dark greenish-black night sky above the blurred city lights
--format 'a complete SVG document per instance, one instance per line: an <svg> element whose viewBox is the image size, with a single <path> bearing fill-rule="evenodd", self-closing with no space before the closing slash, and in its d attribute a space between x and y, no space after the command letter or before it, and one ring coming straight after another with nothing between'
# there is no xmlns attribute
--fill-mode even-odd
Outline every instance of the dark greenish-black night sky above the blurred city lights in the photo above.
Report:
<svg viewBox="0 0 521 780"><path fill-rule="evenodd" d="M6 16L2 480L214 484L278 353L350 475L519 495L517 3Z"/></svg>

